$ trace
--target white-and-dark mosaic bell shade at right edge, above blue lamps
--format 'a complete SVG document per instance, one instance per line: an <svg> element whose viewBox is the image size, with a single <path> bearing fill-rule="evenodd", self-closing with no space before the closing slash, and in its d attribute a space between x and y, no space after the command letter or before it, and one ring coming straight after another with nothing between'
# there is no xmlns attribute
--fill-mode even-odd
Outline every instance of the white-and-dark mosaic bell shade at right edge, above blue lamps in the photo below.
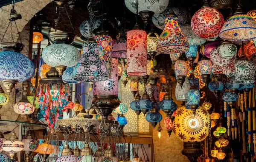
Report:
<svg viewBox="0 0 256 162"><path fill-rule="evenodd" d="M236 83L247 84L254 83L255 64L248 59L239 59L236 61Z"/></svg>

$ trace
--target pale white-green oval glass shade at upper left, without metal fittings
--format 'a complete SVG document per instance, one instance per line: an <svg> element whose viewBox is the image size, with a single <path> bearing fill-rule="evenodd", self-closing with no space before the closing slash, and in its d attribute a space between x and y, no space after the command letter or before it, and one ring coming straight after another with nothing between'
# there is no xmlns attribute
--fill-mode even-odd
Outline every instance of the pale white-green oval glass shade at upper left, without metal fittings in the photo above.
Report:
<svg viewBox="0 0 256 162"><path fill-rule="evenodd" d="M44 48L42 57L49 66L73 67L78 64L81 54L79 50L66 44L52 44Z"/></svg>

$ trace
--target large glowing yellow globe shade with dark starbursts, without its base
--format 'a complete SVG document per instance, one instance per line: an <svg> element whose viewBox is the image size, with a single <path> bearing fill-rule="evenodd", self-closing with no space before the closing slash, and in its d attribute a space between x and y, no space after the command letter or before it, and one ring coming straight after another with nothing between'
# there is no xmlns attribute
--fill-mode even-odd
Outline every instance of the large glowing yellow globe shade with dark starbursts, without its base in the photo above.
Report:
<svg viewBox="0 0 256 162"><path fill-rule="evenodd" d="M210 115L201 106L195 113L181 106L176 110L173 124L173 132L182 142L201 142L211 129Z"/></svg>

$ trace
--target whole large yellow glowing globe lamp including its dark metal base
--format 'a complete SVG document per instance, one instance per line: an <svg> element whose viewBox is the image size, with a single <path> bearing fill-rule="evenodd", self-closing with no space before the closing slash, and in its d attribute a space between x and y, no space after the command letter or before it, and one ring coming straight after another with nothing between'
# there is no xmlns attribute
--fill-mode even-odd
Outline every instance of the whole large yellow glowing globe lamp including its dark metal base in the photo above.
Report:
<svg viewBox="0 0 256 162"><path fill-rule="evenodd" d="M194 161L203 154L201 141L207 138L211 129L209 113L201 106L194 113L181 106L176 110L173 132L183 142L182 154Z"/></svg>

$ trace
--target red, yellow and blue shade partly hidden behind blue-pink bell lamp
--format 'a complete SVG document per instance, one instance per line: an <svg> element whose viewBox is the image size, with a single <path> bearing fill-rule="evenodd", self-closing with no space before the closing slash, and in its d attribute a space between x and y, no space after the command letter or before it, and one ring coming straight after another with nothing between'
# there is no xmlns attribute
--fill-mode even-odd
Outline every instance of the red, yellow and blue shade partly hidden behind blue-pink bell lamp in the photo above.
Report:
<svg viewBox="0 0 256 162"><path fill-rule="evenodd" d="M97 35L97 36L94 36L94 39L98 44L99 58L101 59L103 64L107 67L108 74L111 76L112 38L111 36L108 36L108 35Z"/></svg>

